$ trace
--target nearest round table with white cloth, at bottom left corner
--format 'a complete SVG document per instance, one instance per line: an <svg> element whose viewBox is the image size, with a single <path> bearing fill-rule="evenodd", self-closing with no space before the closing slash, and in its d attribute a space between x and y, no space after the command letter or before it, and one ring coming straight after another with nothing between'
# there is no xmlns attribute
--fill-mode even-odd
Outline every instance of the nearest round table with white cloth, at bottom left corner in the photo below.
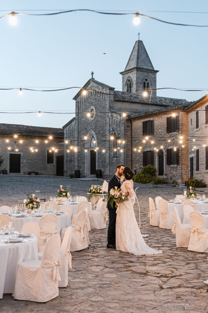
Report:
<svg viewBox="0 0 208 313"><path fill-rule="evenodd" d="M17 266L20 262L38 260L37 238L26 237L27 242L8 243L8 235L0 235L0 299L4 293L13 293Z"/></svg>

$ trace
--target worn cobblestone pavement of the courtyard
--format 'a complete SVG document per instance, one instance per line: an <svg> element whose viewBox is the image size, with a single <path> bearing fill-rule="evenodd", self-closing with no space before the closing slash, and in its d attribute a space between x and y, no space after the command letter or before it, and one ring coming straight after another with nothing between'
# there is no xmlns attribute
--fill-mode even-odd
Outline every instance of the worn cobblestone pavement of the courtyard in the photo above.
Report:
<svg viewBox="0 0 208 313"><path fill-rule="evenodd" d="M3 177L4 178L4 177ZM0 177L1 203L22 202L25 193L41 190L48 197L61 183L71 185L74 194L86 195L94 181L69 180L58 177ZM95 183L101 183L96 181ZM72 253L69 285L59 289L59 297L46 304L14 300L4 295L0 311L41 313L87 312L161 312L191 313L208 311L207 255L176 248L175 236L170 230L149 225L148 198L161 195L165 199L181 193L179 187L138 185L142 229L150 234L145 241L151 247L162 249L155 256L132 254L106 249L107 229L89 233L90 249ZM137 187L136 186L136 187ZM45 192L43 192L45 190ZM135 205L138 221L138 208Z"/></svg>

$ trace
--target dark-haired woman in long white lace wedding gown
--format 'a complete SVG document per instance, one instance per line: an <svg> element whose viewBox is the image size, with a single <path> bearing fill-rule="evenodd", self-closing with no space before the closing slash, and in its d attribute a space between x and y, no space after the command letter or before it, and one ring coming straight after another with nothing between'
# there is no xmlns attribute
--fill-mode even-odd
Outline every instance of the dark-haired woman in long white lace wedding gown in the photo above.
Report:
<svg viewBox="0 0 208 313"><path fill-rule="evenodd" d="M121 185L123 193L129 192L129 200L118 204L116 216L116 250L135 255L159 254L161 250L150 248L144 241L134 215L133 204L135 192L133 190L133 172L130 167L123 169L124 182Z"/></svg>

